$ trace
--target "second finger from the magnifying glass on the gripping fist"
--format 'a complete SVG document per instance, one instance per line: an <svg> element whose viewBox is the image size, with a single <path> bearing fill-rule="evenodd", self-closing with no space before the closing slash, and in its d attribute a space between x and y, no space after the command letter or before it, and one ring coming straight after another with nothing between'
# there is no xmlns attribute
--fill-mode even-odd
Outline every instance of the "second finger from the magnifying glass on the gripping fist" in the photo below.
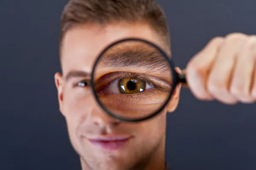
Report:
<svg viewBox="0 0 256 170"><path fill-rule="evenodd" d="M230 78L236 65L236 56L245 40L242 34L228 35L225 38L217 59L212 67L207 89L220 102L236 104L237 100L229 92Z"/></svg>

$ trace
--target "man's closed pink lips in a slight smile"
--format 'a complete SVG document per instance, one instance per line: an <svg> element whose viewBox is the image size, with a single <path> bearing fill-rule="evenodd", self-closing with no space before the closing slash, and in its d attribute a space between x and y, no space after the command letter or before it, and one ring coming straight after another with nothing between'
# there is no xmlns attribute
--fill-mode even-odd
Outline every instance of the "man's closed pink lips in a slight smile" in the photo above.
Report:
<svg viewBox="0 0 256 170"><path fill-rule="evenodd" d="M117 150L130 140L130 136L102 135L96 138L89 138L89 141L96 147L104 150Z"/></svg>

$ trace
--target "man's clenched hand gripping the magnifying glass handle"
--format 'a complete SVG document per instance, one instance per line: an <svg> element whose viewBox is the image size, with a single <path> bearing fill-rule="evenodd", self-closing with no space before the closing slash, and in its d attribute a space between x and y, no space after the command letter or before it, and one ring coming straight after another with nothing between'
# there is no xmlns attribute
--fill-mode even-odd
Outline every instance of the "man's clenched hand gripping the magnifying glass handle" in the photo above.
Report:
<svg viewBox="0 0 256 170"><path fill-rule="evenodd" d="M186 78L200 100L224 104L256 101L256 35L213 38L189 61Z"/></svg>

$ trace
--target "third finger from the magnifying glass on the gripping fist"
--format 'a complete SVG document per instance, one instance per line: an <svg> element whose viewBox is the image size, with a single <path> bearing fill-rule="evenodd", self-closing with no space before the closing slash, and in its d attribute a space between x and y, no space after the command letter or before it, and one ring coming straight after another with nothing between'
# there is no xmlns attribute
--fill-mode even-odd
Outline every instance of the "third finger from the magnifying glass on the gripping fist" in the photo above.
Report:
<svg viewBox="0 0 256 170"><path fill-rule="evenodd" d="M230 92L242 103L253 103L255 98L251 95L253 84L256 37L250 37L238 55L236 68L230 84Z"/></svg>

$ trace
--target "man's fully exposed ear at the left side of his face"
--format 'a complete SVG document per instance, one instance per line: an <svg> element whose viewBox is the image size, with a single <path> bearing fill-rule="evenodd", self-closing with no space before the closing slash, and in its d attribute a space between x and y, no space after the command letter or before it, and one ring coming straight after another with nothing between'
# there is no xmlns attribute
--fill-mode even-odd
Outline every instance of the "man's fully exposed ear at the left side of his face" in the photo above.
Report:
<svg viewBox="0 0 256 170"><path fill-rule="evenodd" d="M63 89L64 89L64 81L61 73L57 72L54 75L55 85L58 90L58 103L61 114L63 115Z"/></svg>

